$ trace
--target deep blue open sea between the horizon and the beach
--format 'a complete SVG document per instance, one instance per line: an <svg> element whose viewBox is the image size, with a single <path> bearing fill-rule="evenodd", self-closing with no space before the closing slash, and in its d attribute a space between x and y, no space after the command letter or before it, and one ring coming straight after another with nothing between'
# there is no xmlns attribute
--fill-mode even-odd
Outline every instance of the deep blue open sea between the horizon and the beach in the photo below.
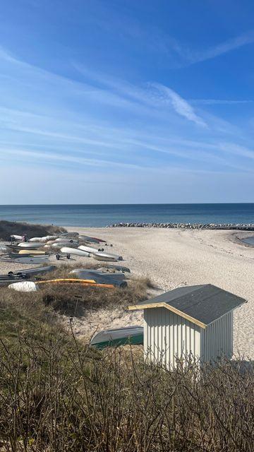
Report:
<svg viewBox="0 0 254 452"><path fill-rule="evenodd" d="M80 227L116 222L254 223L254 203L0 206L0 220Z"/></svg>

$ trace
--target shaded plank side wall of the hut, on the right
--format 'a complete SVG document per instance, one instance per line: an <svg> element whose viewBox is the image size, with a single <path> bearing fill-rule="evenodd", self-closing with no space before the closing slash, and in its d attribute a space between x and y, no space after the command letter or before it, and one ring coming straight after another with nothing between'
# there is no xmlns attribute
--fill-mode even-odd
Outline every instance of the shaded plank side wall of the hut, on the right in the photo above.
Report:
<svg viewBox="0 0 254 452"><path fill-rule="evenodd" d="M233 352L233 311L207 326L200 333L202 362L216 361L223 355L231 358Z"/></svg>

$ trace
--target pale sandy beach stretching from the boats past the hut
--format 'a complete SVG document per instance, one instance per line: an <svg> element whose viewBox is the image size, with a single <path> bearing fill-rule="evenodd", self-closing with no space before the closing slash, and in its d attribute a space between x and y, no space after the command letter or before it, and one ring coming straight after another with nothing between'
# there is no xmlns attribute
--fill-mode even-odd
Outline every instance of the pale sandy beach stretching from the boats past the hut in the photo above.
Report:
<svg viewBox="0 0 254 452"><path fill-rule="evenodd" d="M247 237L253 235L253 232L145 228L67 229L107 240L113 245L107 247L109 252L121 254L123 265L128 266L134 275L149 277L161 291L182 285L211 283L247 299L248 303L234 313L234 353L254 358L254 247L245 246L238 240L238 237ZM87 259L77 258L76 261L98 263L92 258L89 261ZM0 273L27 267L1 262ZM110 315L102 311L99 315L97 313L90 316L90 319L77 319L75 331L78 335L85 336L96 328L138 323L142 324L142 312L116 309Z"/></svg>

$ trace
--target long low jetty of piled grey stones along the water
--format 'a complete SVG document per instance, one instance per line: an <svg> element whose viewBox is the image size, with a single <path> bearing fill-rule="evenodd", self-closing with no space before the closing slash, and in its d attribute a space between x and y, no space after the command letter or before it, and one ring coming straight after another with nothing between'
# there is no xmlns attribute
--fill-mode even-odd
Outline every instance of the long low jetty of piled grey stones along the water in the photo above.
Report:
<svg viewBox="0 0 254 452"><path fill-rule="evenodd" d="M210 229L210 230L239 230L239 231L254 231L254 223L244 224L216 224L208 223L203 225L202 223L114 223L107 227L167 227L169 229L181 228L181 229Z"/></svg>

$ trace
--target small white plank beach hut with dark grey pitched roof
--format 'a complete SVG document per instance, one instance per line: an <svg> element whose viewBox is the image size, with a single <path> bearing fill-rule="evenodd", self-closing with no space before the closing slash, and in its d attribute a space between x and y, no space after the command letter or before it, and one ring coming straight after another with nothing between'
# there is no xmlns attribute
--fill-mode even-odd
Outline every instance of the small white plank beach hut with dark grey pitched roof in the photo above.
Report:
<svg viewBox="0 0 254 452"><path fill-rule="evenodd" d="M211 284L179 287L128 309L144 309L144 352L172 368L179 359L231 358L233 311L246 300Z"/></svg>

